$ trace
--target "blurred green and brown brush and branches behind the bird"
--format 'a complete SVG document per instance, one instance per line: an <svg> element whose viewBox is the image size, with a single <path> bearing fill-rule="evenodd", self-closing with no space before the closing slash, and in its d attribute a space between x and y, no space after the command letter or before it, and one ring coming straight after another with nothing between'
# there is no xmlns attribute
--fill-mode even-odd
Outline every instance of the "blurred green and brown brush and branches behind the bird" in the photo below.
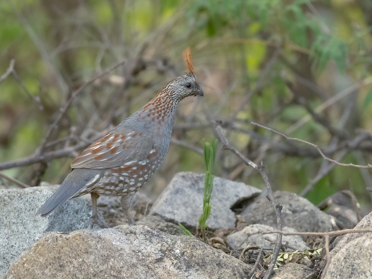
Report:
<svg viewBox="0 0 372 279"><path fill-rule="evenodd" d="M181 102L166 161L141 191L155 197L177 171L202 173L202 138L218 118L231 144L264 162L275 189L315 204L352 189L371 211L371 170L335 166L314 147L250 123L317 144L342 163L371 163L371 1L6 0L0 14L0 161L39 158L0 163L4 175L61 183L83 150L77 144L89 145L182 74L190 46L205 95ZM264 187L227 151L218 152L215 174ZM1 187L17 186L2 177Z"/></svg>

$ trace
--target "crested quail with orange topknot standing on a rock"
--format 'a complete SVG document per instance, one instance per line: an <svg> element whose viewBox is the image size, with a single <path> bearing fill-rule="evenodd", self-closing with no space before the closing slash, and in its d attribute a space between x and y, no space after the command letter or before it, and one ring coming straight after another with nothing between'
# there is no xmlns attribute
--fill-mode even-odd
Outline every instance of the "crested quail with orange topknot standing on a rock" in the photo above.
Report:
<svg viewBox="0 0 372 279"><path fill-rule="evenodd" d="M109 228L98 217L97 199L101 195L121 196L128 225L135 225L129 205L164 161L178 103L188 96L204 95L190 48L183 51L183 60L189 73L169 81L150 102L78 155L71 162L70 174L36 214L46 217L67 200L90 193L90 227Z"/></svg>

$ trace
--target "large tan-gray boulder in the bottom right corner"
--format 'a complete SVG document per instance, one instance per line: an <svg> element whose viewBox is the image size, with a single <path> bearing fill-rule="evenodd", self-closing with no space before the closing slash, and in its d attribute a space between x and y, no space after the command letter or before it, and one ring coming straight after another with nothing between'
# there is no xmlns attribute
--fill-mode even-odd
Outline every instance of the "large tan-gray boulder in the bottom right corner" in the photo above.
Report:
<svg viewBox="0 0 372 279"><path fill-rule="evenodd" d="M371 235L365 234L342 246L332 257L324 279L372 278Z"/></svg>

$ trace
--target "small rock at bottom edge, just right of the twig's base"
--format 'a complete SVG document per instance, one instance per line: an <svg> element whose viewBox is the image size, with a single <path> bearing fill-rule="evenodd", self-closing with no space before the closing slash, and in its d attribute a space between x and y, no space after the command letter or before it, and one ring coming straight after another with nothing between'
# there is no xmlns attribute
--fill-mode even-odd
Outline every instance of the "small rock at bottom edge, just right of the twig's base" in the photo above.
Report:
<svg viewBox="0 0 372 279"><path fill-rule="evenodd" d="M313 272L312 269L298 263L287 263L283 266L280 266L277 270L274 270L274 273L271 275L271 279L294 279L294 278L308 278L308 279L317 279L318 276L315 274L309 276Z"/></svg>

